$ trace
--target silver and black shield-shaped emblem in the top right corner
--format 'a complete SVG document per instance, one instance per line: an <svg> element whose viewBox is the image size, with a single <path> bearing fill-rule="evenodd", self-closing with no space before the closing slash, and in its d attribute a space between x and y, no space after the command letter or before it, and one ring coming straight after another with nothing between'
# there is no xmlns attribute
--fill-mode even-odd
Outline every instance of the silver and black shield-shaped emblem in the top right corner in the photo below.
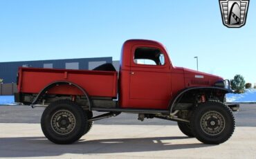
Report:
<svg viewBox="0 0 256 159"><path fill-rule="evenodd" d="M224 26L240 28L246 24L249 0L219 0Z"/></svg>

